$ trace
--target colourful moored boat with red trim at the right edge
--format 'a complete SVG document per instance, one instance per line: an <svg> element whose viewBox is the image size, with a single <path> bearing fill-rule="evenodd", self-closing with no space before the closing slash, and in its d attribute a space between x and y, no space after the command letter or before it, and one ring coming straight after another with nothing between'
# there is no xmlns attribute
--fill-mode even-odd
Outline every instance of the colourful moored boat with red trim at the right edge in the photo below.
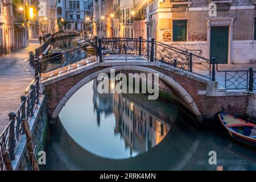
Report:
<svg viewBox="0 0 256 182"><path fill-rule="evenodd" d="M218 114L218 118L232 138L256 148L256 125L226 113Z"/></svg>

